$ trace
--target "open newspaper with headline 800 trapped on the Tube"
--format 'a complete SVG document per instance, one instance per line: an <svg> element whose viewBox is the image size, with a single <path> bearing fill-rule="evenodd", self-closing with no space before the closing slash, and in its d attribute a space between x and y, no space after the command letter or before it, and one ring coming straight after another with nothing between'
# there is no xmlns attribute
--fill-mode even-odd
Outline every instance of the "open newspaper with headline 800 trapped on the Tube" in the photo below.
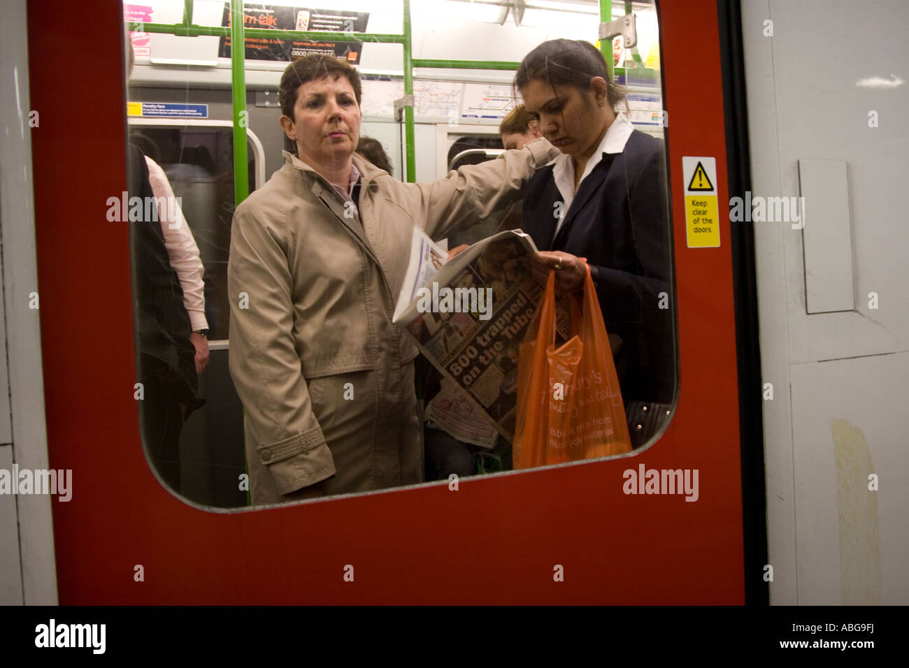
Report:
<svg viewBox="0 0 909 668"><path fill-rule="evenodd" d="M544 292L519 260L535 252L529 235L506 230L446 261L445 250L414 230L394 322L442 374L443 391L426 414L460 441L492 447L490 426L514 440L520 344ZM559 337L569 338L569 310L556 310Z"/></svg>

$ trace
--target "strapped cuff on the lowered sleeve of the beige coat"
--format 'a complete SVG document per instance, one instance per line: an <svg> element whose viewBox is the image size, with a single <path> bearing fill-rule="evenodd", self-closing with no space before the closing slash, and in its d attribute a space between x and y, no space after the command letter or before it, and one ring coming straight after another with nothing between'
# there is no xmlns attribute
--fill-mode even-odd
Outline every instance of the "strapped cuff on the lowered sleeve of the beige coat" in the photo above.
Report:
<svg viewBox="0 0 909 668"><path fill-rule="evenodd" d="M290 494L335 474L335 460L318 426L283 441L259 445L256 453L275 479L279 494Z"/></svg>

